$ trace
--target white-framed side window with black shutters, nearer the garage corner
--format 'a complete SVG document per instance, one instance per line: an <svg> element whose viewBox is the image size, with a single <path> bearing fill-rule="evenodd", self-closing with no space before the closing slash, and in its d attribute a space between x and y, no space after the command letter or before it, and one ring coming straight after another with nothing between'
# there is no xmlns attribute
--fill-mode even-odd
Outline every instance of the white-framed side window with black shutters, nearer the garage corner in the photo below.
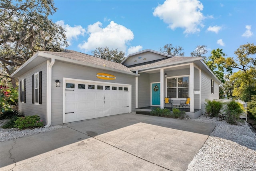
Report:
<svg viewBox="0 0 256 171"><path fill-rule="evenodd" d="M32 103L42 104L42 71L32 75Z"/></svg>

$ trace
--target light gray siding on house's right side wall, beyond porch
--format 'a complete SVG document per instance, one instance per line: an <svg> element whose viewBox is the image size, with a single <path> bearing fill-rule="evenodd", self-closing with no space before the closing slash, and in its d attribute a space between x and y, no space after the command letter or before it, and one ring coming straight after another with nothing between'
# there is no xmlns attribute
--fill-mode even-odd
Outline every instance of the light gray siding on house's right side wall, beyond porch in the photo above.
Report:
<svg viewBox="0 0 256 171"><path fill-rule="evenodd" d="M214 93L211 93L211 79L214 80ZM216 92L217 89L217 92ZM202 71L202 114L205 113L205 99L219 99L219 85L216 84L216 80L214 78L210 78L205 72Z"/></svg>

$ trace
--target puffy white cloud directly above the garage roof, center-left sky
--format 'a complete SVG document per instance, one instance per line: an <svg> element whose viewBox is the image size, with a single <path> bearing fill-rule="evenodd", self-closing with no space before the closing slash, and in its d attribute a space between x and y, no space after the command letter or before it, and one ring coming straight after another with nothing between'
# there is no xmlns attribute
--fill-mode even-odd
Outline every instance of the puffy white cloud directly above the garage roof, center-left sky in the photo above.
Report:
<svg viewBox="0 0 256 171"><path fill-rule="evenodd" d="M78 45L85 52L105 46L126 52L127 44L134 39L134 34L130 29L114 21L111 21L105 28L102 28L101 22L89 25L87 33L89 34L87 42Z"/></svg>

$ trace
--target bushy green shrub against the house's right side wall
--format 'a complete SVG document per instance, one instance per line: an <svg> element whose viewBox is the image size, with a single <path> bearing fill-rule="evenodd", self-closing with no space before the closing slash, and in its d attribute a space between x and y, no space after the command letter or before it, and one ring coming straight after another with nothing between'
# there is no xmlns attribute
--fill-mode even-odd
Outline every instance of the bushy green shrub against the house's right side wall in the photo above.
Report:
<svg viewBox="0 0 256 171"><path fill-rule="evenodd" d="M212 117L218 117L218 114L220 113L220 109L222 108L222 102L206 99L205 109L206 113L212 118Z"/></svg>

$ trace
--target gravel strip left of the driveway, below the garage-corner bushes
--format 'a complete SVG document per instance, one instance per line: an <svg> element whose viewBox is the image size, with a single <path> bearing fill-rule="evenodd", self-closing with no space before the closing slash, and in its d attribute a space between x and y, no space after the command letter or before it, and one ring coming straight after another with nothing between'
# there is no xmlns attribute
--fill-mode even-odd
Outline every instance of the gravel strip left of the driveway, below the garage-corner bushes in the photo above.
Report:
<svg viewBox="0 0 256 171"><path fill-rule="evenodd" d="M0 120L0 127L2 125L4 125L4 123L6 121L7 121L7 119ZM0 128L0 142L8 141L11 139L17 139L17 138L21 138L21 137L26 137L26 136L30 136L30 135L35 135L38 133L44 133L44 132L61 129L61 128L66 128L66 126L54 125L54 126L50 126L47 128L42 127L42 128L34 128L34 129L23 129L23 130L18 129L18 128L11 128L11 129Z"/></svg>

